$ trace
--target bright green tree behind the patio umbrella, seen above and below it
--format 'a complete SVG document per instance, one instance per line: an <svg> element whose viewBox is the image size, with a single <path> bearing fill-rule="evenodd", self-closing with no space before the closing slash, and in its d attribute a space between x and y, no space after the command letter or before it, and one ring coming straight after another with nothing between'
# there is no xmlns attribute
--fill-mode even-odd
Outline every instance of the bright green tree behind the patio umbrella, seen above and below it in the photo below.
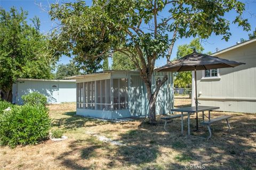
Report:
<svg viewBox="0 0 256 170"><path fill-rule="evenodd" d="M193 49L196 49L198 53L203 53L204 48L201 45L199 38L193 39L189 44L178 46L177 58L179 59L185 55L192 53ZM206 54L210 55L211 52L208 52ZM174 87L189 88L191 86L191 81L192 81L191 71L177 72L174 74L174 76L175 76Z"/></svg>

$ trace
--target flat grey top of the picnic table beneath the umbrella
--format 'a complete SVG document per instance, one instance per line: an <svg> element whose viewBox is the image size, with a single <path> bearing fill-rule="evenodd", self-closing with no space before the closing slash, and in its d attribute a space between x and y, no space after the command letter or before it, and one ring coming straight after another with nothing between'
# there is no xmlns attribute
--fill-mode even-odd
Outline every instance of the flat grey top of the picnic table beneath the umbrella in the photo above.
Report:
<svg viewBox="0 0 256 170"><path fill-rule="evenodd" d="M181 107L181 108L173 108L171 111L173 112L186 112L186 113L196 113L196 112L203 112L203 111L212 111L215 109L219 109L220 107L215 106L192 106L192 107Z"/></svg>

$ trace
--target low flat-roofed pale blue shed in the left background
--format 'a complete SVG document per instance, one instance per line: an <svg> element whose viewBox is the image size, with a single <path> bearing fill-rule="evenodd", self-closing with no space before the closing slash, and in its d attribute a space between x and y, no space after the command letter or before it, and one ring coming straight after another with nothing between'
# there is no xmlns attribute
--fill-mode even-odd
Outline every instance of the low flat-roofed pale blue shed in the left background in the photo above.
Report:
<svg viewBox="0 0 256 170"><path fill-rule="evenodd" d="M21 105L21 96L39 92L47 97L48 103L75 102L75 80L18 79L12 88L12 103Z"/></svg>

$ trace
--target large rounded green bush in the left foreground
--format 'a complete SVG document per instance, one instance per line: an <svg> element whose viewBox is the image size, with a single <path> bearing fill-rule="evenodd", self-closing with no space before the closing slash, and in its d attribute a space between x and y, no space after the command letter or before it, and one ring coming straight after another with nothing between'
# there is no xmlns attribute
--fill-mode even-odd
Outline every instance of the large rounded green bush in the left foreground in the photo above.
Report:
<svg viewBox="0 0 256 170"><path fill-rule="evenodd" d="M0 115L0 145L36 145L49 137L51 119L44 106L16 106Z"/></svg>

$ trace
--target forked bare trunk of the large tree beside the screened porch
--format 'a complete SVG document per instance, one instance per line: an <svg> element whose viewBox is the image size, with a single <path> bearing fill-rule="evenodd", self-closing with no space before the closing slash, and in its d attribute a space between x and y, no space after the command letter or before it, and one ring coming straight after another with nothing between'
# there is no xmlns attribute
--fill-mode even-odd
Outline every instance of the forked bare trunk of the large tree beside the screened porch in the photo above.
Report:
<svg viewBox="0 0 256 170"><path fill-rule="evenodd" d="M163 80L158 79L156 81L156 89L152 93L151 90L151 82L145 82L146 88L147 88L147 94L148 94L148 101L149 101L149 123L150 124L156 124L156 98L158 95L158 92L161 88L161 86L165 83L165 81L168 79L167 75L163 78Z"/></svg>

